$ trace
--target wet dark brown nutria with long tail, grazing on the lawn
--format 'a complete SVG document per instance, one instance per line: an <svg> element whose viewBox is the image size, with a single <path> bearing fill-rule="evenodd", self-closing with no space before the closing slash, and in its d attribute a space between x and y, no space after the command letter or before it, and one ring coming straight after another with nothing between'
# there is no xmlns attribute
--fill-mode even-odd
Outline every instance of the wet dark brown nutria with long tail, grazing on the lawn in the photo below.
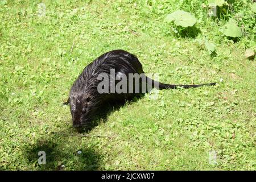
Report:
<svg viewBox="0 0 256 182"><path fill-rule="evenodd" d="M113 73L114 80L112 80ZM137 75L137 78L140 75L141 77L139 77L138 82L134 81L136 79L134 77L133 82L130 83L127 79L124 80L130 75ZM146 80L143 80L143 78L146 78ZM125 88L123 84L119 87L119 90L115 90L115 86L121 81L127 83L128 87ZM143 88L145 87L143 86L145 82L146 89ZM73 83L68 101L65 104L70 105L73 126L84 127L88 126L89 121L97 112L101 111L101 106L106 102L131 100L138 94L149 92L151 88L196 88L215 84L170 85L151 80L151 78L144 75L142 64L135 55L123 50L114 50L104 53L84 68L84 71ZM151 88L149 87L148 89L148 85L151 85ZM138 89L136 90L135 88Z"/></svg>

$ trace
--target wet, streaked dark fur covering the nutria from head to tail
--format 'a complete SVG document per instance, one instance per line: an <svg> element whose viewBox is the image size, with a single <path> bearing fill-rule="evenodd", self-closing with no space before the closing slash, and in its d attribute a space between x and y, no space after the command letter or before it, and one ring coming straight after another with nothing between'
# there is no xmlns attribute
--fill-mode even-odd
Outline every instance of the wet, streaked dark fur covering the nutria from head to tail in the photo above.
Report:
<svg viewBox="0 0 256 182"><path fill-rule="evenodd" d="M131 100L134 96L138 95L135 93L98 93L97 86L101 80L98 80L97 77L100 73L110 75L110 69L115 69L115 73L121 72L127 77L129 73L144 73L142 64L137 57L123 50L106 52L87 65L81 75L73 83L68 101L65 103L70 105L74 127L88 126L91 119L101 111L102 105L105 103L113 101L123 102L125 100ZM177 88L177 86L183 88L202 86L170 85L152 80L152 85L154 86L155 84L159 85L158 89L174 89ZM203 85L214 84L215 83Z"/></svg>

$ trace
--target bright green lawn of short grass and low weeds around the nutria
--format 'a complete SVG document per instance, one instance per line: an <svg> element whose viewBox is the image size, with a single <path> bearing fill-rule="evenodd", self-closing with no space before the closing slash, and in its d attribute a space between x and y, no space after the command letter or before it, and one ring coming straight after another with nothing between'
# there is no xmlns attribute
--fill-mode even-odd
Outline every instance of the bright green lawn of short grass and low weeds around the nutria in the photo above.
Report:
<svg viewBox="0 0 256 182"><path fill-rule="evenodd" d="M0 1L0 169L256 169L255 59L244 56L256 49L251 1L228 1L232 11L217 18L206 1L43 1L42 18L40 2ZM198 19L195 38L165 22L178 9ZM235 42L220 32L229 17L243 27ZM218 84L146 95L84 136L62 103L82 69L112 49L134 53L162 82Z"/></svg>

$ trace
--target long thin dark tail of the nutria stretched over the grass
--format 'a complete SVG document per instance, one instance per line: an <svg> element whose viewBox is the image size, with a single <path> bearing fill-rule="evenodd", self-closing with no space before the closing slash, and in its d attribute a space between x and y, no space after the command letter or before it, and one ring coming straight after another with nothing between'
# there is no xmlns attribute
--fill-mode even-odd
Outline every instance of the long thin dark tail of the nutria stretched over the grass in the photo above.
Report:
<svg viewBox="0 0 256 182"><path fill-rule="evenodd" d="M162 89L175 89L175 88L178 88L178 87L181 87L181 88L184 88L184 89L188 89L188 88L196 88L196 87L204 86L204 85L205 86L216 85L216 83L200 84L200 85L170 85L170 84L163 84L161 82L152 80L151 78L148 78L148 77L147 77L147 82L152 83L152 86L154 88L158 88L159 90L162 90Z"/></svg>

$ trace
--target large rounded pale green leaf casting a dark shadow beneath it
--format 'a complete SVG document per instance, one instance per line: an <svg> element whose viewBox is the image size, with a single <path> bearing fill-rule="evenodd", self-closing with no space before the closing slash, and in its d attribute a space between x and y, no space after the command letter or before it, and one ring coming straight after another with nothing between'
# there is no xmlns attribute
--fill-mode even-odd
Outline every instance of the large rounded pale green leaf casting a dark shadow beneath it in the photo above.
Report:
<svg viewBox="0 0 256 182"><path fill-rule="evenodd" d="M196 23L195 16L186 11L177 10L166 16L167 22L172 22L181 27L192 27Z"/></svg>

